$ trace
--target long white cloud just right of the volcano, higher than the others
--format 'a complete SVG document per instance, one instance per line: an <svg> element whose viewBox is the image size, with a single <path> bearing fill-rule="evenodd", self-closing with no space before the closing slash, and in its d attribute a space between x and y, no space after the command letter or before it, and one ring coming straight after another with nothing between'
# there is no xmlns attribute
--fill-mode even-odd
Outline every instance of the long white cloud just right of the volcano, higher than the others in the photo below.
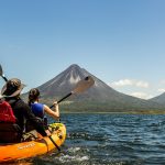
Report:
<svg viewBox="0 0 165 165"><path fill-rule="evenodd" d="M135 80L135 79L120 79L110 84L112 87L124 87L124 86L135 86L140 88L148 88L148 82L143 80Z"/></svg>

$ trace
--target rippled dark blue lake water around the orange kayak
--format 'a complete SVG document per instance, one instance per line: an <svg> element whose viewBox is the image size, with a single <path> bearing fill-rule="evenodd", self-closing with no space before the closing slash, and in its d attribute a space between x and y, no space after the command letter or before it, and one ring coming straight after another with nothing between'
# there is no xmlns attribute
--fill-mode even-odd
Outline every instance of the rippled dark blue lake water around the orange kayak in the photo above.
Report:
<svg viewBox="0 0 165 165"><path fill-rule="evenodd" d="M165 116L63 114L62 153L31 160L38 165L165 165Z"/></svg>

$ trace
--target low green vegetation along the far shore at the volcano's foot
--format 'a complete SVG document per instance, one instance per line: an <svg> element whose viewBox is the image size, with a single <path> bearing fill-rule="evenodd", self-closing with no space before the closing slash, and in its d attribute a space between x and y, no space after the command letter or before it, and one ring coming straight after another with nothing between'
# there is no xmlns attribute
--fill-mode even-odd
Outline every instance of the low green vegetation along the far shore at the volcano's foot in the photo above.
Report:
<svg viewBox="0 0 165 165"><path fill-rule="evenodd" d="M26 97L22 97L28 101ZM41 102L52 106L54 100L61 98L41 98ZM150 108L142 105L134 105L130 102L116 101L96 101L96 100L74 100L67 99L59 105L62 113L131 113L131 114L165 114L165 108Z"/></svg>

